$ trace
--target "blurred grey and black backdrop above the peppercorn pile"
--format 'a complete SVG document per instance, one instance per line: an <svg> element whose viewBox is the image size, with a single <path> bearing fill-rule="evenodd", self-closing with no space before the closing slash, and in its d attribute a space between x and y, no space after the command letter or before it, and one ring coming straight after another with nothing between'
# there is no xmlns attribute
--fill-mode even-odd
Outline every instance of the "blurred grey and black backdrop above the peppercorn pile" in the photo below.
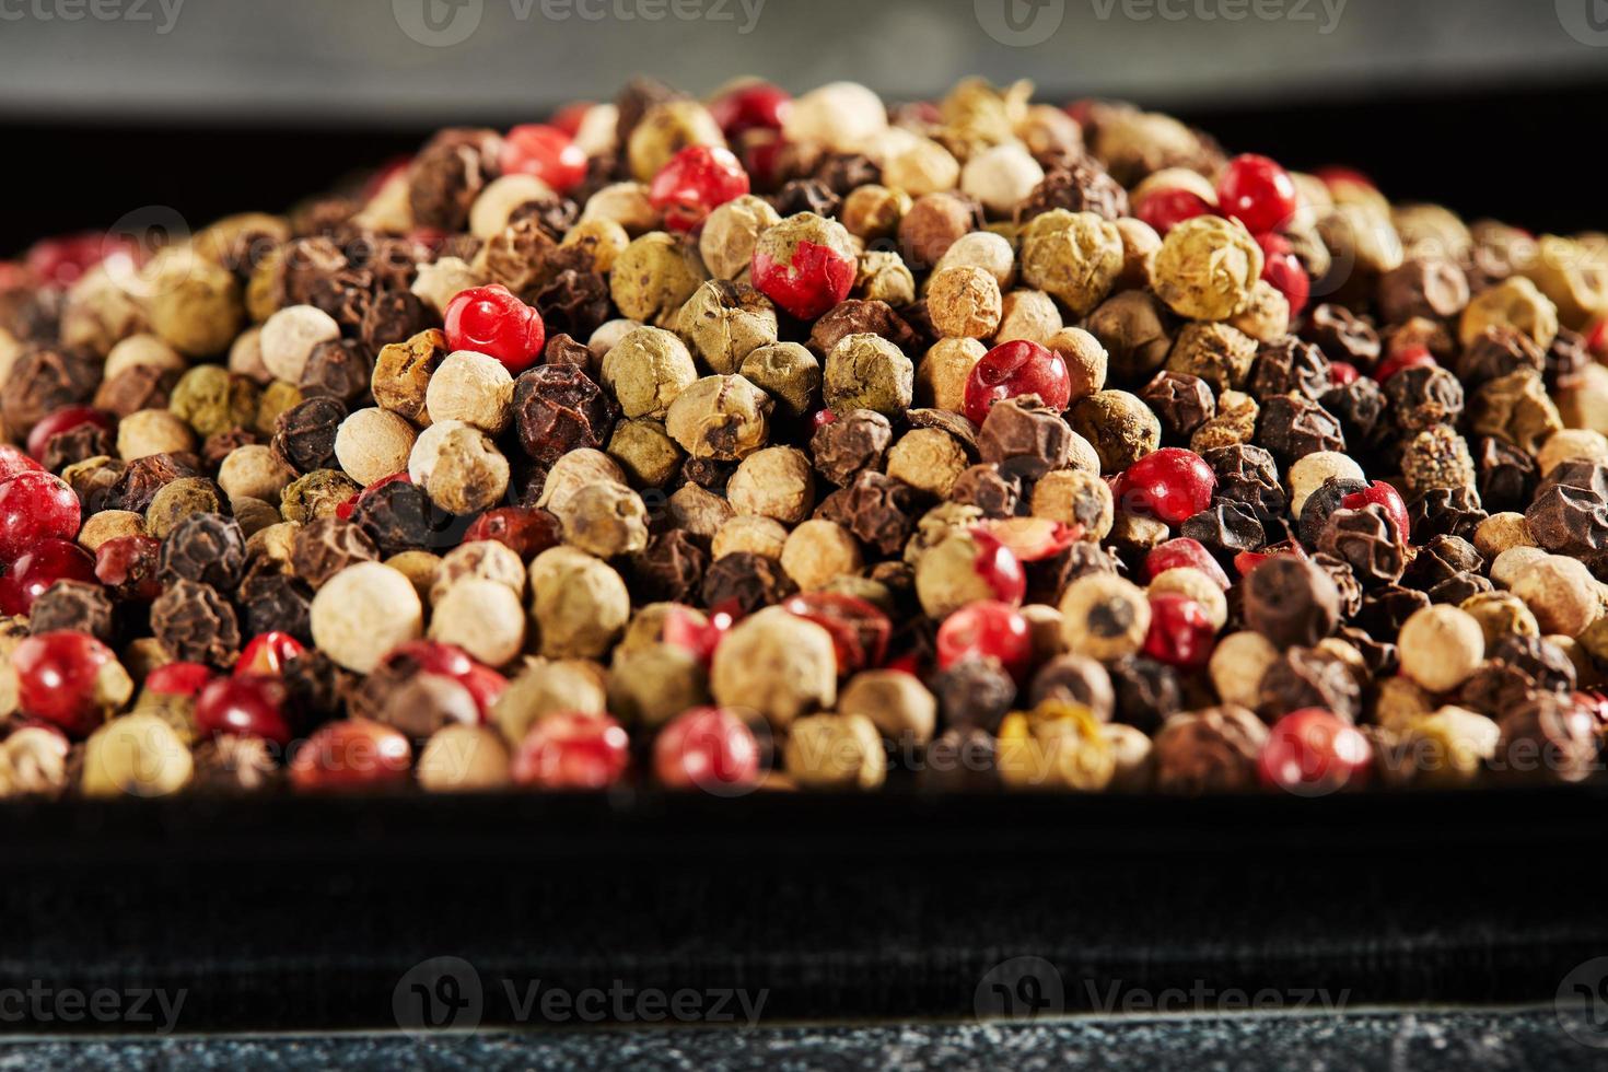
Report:
<svg viewBox="0 0 1608 1072"><path fill-rule="evenodd" d="M1291 167L1595 227L1605 0L0 0L0 256L161 204L281 209L453 122L634 74L889 101L955 79L1121 96Z"/></svg>

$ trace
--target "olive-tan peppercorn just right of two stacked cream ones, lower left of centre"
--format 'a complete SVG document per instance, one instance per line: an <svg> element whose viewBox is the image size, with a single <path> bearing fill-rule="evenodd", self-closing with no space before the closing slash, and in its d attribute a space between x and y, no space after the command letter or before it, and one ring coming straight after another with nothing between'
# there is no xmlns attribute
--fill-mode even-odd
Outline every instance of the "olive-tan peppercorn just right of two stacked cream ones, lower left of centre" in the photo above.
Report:
<svg viewBox="0 0 1608 1072"><path fill-rule="evenodd" d="M630 620L630 593L608 563L553 546L531 563L531 616L550 659L595 659Z"/></svg>

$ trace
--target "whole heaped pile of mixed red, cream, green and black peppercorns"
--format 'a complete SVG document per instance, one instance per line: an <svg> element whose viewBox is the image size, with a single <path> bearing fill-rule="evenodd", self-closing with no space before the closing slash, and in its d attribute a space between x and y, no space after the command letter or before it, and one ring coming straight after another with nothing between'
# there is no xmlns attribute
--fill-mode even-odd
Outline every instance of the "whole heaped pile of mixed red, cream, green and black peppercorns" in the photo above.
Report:
<svg viewBox="0 0 1608 1072"><path fill-rule="evenodd" d="M1579 781L1608 236L637 82L0 265L0 792Z"/></svg>

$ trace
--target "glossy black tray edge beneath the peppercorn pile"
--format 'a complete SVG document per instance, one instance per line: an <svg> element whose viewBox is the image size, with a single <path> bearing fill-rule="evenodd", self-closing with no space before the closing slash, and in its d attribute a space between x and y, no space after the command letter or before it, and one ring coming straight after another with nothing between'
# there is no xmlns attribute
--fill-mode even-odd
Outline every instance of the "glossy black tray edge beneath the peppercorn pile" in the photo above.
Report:
<svg viewBox="0 0 1608 1072"><path fill-rule="evenodd" d="M765 1022L1539 1001L1608 953L1605 796L18 804L0 995L183 990L187 1032L413 1027L415 982L465 982L413 969L453 956L482 1024L585 1022L521 1013L505 984L534 980L764 992Z"/></svg>

